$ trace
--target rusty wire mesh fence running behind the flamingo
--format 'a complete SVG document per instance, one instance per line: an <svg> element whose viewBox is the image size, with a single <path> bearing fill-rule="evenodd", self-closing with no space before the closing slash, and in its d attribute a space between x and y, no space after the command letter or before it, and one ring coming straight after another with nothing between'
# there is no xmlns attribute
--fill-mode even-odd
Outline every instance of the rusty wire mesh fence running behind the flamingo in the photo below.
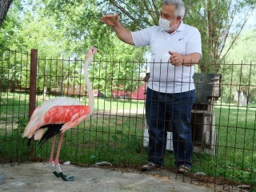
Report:
<svg viewBox="0 0 256 192"><path fill-rule="evenodd" d="M1 162L47 160L51 142L27 147L22 132L29 118L30 53L1 50ZM88 102L84 61L37 58L35 106L58 96ZM60 159L77 165L132 167L148 158L145 115L148 62L94 60L90 82L94 112L66 131ZM256 85L254 63L223 63L214 73L195 66L196 98L191 110L194 154L191 179L222 185L256 183ZM171 119L166 119L164 170L175 171Z"/></svg>

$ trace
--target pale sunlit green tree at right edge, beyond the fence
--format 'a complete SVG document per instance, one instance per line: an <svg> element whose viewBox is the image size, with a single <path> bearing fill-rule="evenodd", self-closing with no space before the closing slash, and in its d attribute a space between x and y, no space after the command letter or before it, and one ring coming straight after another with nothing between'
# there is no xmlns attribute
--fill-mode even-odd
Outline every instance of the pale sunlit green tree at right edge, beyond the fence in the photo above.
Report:
<svg viewBox="0 0 256 192"><path fill-rule="evenodd" d="M220 73L225 77L222 83L222 95L226 102L238 102L238 105L256 102L255 39L254 30L246 30L242 33L227 55L226 64L220 68ZM250 49L245 51L245 47ZM227 98L225 95L231 97Z"/></svg>

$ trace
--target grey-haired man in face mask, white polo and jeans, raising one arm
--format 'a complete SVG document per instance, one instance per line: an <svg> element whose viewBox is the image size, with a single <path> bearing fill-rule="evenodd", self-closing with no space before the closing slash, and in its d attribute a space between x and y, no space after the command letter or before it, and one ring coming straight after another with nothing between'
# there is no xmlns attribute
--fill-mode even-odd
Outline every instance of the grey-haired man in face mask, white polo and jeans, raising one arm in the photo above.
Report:
<svg viewBox="0 0 256 192"><path fill-rule="evenodd" d="M141 170L163 166L167 127L173 132L175 165L178 172L192 168L191 110L194 102L194 64L202 58L199 31L182 22L182 0L163 0L159 26L131 32L108 14L101 22L112 26L118 38L134 46L150 46L150 80L146 94L146 122L149 126L148 163ZM169 121L169 122L168 122Z"/></svg>

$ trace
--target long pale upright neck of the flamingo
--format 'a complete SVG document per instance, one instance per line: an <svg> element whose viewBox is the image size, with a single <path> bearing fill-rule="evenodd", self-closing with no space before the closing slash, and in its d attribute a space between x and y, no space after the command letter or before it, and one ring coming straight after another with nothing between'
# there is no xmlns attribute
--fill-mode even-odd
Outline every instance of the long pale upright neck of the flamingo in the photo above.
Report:
<svg viewBox="0 0 256 192"><path fill-rule="evenodd" d="M91 86L90 79L89 79L89 74L88 74L88 66L89 66L90 61L93 59L92 57L93 56L91 56L89 59L86 59L85 68L84 68L86 87L87 87L87 90L88 90L88 97L89 97L88 106L90 106L90 114L94 111L94 92L93 92L93 88Z"/></svg>

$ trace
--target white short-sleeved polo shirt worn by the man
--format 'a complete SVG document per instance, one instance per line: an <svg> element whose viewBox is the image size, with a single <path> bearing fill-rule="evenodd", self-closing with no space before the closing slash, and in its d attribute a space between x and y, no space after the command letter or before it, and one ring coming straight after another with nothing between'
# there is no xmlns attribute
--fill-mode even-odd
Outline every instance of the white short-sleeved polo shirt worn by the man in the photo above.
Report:
<svg viewBox="0 0 256 192"><path fill-rule="evenodd" d="M180 54L198 53L202 57L201 34L194 26L183 22L172 34L150 26L131 33L135 46L150 46L150 80L148 87L162 93L180 93L194 90L194 66L173 66L168 51Z"/></svg>

